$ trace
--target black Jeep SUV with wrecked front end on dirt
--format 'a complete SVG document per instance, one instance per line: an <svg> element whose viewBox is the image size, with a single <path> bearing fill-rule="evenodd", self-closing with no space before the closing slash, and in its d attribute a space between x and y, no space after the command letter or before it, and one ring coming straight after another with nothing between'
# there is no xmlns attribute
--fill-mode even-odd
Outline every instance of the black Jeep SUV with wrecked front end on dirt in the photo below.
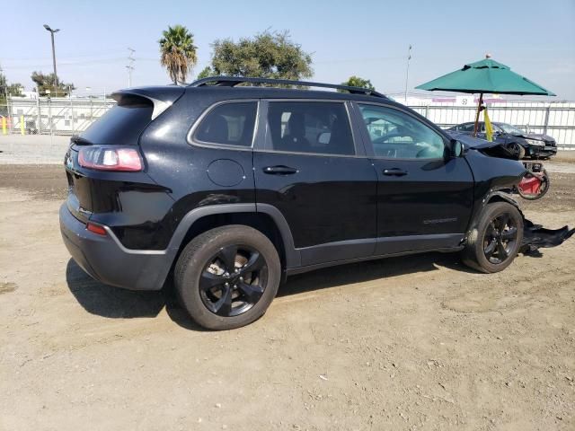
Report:
<svg viewBox="0 0 575 431"><path fill-rule="evenodd" d="M422 251L496 272L522 242L500 189L523 165L378 92L217 77L113 97L71 139L64 242L111 286L156 290L173 274L203 327L258 319L290 274Z"/></svg>

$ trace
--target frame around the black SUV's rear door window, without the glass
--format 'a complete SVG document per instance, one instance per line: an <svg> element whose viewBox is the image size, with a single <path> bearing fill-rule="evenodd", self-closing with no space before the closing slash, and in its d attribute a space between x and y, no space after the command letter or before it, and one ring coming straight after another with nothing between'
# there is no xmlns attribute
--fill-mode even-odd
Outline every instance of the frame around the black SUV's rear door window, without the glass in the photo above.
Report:
<svg viewBox="0 0 575 431"><path fill-rule="evenodd" d="M330 103L342 103L348 119L349 130L351 133L351 139L353 142L353 149L354 154L327 154L327 153L301 153L295 151L282 151L282 150L274 150L272 148L267 148L268 136L270 133L270 128L268 125L268 112L270 110L270 103L275 101L284 101L284 102L302 102L302 101L309 101L309 102L330 102ZM362 143L360 142L361 137L358 136L358 130L356 128L355 122L352 120L353 112L352 106L349 101L340 100L340 99L261 99L260 101L260 110L258 115L258 134L255 139L255 145L253 146L253 151L257 151L260 153L277 153L277 154L298 154L298 155L310 155L310 156L323 156L323 157L366 157L365 150L363 148Z"/></svg>

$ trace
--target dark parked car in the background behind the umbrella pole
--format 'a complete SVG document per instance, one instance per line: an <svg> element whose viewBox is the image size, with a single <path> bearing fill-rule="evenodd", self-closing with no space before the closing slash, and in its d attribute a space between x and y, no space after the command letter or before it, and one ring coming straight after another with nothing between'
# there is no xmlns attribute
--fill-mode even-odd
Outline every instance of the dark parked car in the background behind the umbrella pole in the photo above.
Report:
<svg viewBox="0 0 575 431"><path fill-rule="evenodd" d="M519 159L549 159L557 154L557 143L552 136L526 133L520 128L507 123L491 122L491 125L493 128L493 142L505 145ZM473 135L473 127L473 122L462 123L453 128L448 128L447 132L471 136ZM480 122L478 129L477 137L486 139L485 123Z"/></svg>

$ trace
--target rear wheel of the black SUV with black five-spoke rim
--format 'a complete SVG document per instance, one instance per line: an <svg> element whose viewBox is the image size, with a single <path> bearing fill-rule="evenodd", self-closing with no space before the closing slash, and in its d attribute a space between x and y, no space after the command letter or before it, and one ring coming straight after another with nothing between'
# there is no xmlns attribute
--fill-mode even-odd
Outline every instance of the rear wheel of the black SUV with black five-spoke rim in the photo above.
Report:
<svg viewBox="0 0 575 431"><path fill-rule="evenodd" d="M278 293L280 279L274 245L260 231L239 224L194 238L174 269L181 305L208 330L233 330L259 319Z"/></svg>

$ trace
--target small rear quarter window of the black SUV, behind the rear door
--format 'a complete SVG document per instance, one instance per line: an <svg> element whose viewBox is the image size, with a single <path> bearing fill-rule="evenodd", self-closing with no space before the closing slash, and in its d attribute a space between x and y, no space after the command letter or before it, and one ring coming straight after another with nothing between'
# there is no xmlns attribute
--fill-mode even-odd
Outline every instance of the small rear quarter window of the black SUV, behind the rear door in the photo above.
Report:
<svg viewBox="0 0 575 431"><path fill-rule="evenodd" d="M194 139L208 144L252 146L256 112L255 101L218 105L201 120Z"/></svg>

